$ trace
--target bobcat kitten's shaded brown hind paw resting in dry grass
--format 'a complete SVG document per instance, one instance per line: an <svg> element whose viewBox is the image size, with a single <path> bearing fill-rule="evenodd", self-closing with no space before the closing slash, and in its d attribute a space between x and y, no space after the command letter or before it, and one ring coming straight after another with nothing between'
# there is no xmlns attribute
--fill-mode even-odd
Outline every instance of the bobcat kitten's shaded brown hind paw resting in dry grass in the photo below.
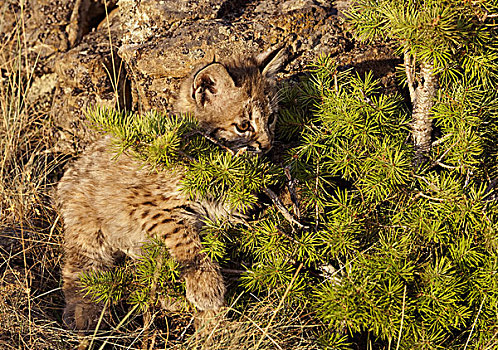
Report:
<svg viewBox="0 0 498 350"><path fill-rule="evenodd" d="M66 305L62 319L67 328L75 331L93 331L103 312L102 304L85 301L72 302ZM107 328L107 312L104 311L99 329Z"/></svg>

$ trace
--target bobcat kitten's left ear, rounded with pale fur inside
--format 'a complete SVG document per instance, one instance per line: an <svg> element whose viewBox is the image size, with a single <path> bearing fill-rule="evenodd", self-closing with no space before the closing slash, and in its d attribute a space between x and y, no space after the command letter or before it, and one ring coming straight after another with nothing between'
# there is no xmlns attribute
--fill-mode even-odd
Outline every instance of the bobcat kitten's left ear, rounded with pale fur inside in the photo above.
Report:
<svg viewBox="0 0 498 350"><path fill-rule="evenodd" d="M221 63L211 63L198 71L192 82L192 98L202 107L221 99L235 82Z"/></svg>

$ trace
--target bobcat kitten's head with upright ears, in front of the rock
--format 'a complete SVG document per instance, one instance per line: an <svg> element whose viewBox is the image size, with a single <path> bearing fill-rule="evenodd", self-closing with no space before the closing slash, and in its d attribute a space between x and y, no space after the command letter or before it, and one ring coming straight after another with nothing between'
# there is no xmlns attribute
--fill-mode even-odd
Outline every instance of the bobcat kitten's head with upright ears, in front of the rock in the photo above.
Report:
<svg viewBox="0 0 498 350"><path fill-rule="evenodd" d="M211 137L231 149L266 152L278 107L275 74L284 60L282 49L204 65L183 83L176 110L193 113Z"/></svg>

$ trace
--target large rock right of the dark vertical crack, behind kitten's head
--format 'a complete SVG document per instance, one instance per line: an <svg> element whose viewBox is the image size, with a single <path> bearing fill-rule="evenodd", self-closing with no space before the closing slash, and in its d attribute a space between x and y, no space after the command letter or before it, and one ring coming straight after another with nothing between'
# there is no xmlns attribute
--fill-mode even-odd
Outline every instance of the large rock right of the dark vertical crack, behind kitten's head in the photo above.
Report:
<svg viewBox="0 0 498 350"><path fill-rule="evenodd" d="M124 3L128 6L130 1ZM239 1L239 7L234 2L220 6L219 0L205 0L195 5L211 9L205 12L192 12L190 2L172 11L170 3L165 2L160 16L156 3L133 2L132 11L125 7L122 13L122 18L133 13L147 24L146 29L144 22L126 26L133 33L125 36L118 51L132 72L134 106L141 110L169 110L179 81L213 55L243 56L285 45L291 51L288 76L315 55L335 50L332 45L337 45L329 38L322 40L322 33L337 32L334 10L312 0ZM319 49L314 51L316 47Z"/></svg>

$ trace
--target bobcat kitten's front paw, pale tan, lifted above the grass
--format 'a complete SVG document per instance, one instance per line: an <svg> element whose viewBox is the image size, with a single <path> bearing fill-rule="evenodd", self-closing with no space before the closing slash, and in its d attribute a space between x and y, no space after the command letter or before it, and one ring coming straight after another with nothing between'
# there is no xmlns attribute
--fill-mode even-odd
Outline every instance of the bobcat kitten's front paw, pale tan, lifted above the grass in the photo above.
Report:
<svg viewBox="0 0 498 350"><path fill-rule="evenodd" d="M218 310L225 302L225 284L217 266L203 264L185 276L187 299L200 310Z"/></svg>

